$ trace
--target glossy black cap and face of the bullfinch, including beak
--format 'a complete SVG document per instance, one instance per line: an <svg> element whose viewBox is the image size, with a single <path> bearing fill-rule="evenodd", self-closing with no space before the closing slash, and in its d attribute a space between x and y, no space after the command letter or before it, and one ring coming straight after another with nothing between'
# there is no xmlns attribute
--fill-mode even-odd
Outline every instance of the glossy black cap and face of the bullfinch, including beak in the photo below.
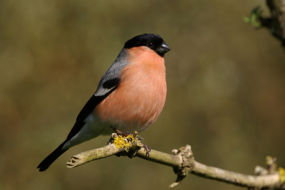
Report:
<svg viewBox="0 0 285 190"><path fill-rule="evenodd" d="M171 50L170 46L168 46L160 36L153 33L145 33L131 38L125 43L124 48L134 48L139 46L147 46L158 55L162 56L162 58L165 56L165 53Z"/></svg>

